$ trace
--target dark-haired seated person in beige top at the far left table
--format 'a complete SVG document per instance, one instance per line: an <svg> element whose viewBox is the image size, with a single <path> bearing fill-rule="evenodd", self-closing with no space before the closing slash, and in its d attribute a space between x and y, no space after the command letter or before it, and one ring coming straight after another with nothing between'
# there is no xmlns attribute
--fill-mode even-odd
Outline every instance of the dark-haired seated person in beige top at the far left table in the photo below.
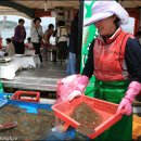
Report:
<svg viewBox="0 0 141 141"><path fill-rule="evenodd" d="M15 48L10 38L7 38L5 40L7 40L5 53L8 53L9 56L13 56L15 54Z"/></svg>

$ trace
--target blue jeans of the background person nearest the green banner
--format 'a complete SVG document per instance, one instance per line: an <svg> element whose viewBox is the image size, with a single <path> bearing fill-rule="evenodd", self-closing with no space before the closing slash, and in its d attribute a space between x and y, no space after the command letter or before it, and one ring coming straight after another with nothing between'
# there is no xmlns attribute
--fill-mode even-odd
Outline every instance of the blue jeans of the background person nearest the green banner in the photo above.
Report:
<svg viewBox="0 0 141 141"><path fill-rule="evenodd" d="M69 52L66 73L67 75L76 74L76 53Z"/></svg>

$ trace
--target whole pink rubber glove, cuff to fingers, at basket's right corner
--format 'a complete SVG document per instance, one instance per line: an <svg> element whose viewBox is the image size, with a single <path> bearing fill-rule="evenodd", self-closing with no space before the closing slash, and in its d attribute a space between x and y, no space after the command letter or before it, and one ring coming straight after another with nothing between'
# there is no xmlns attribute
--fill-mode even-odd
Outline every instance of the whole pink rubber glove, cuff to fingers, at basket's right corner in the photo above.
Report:
<svg viewBox="0 0 141 141"><path fill-rule="evenodd" d="M117 112L121 111L121 114L130 115L132 113L131 104L140 91L141 84L138 81L132 81L128 87L125 98L123 98L121 102L119 103Z"/></svg>

